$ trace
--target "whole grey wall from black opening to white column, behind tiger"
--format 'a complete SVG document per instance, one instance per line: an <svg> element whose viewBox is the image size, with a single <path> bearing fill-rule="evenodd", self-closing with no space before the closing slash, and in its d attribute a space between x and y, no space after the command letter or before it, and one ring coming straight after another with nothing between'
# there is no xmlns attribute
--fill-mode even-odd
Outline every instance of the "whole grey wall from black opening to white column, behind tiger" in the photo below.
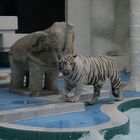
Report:
<svg viewBox="0 0 140 140"><path fill-rule="evenodd" d="M74 24L75 51L84 55L109 55L120 70L129 71L129 2L67 0L66 20Z"/></svg>

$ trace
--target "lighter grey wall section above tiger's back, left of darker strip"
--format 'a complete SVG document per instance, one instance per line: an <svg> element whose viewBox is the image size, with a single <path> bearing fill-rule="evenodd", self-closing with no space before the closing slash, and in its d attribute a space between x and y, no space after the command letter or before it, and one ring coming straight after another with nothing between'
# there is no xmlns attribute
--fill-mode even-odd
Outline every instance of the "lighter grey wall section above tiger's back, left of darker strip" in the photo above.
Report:
<svg viewBox="0 0 140 140"><path fill-rule="evenodd" d="M93 55L106 55L112 50L111 36L114 26L114 0L91 0L91 47Z"/></svg>

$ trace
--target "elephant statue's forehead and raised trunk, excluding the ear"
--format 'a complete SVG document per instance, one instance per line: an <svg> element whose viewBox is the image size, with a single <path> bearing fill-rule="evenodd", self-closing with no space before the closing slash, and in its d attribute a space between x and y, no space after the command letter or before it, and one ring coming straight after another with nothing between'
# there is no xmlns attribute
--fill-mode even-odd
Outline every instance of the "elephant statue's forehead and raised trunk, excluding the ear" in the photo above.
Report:
<svg viewBox="0 0 140 140"><path fill-rule="evenodd" d="M66 53L73 53L74 31L73 25L66 22L56 22L49 30L44 32L50 34L48 45L61 57Z"/></svg>

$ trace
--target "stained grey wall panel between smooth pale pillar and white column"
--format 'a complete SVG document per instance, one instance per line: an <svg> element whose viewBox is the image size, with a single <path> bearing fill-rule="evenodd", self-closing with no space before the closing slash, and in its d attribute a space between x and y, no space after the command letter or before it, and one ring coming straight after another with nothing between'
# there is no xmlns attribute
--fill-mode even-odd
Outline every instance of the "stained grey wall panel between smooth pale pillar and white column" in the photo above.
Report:
<svg viewBox="0 0 140 140"><path fill-rule="evenodd" d="M109 55L129 71L129 0L91 0L93 55ZM122 61L124 60L124 61Z"/></svg>

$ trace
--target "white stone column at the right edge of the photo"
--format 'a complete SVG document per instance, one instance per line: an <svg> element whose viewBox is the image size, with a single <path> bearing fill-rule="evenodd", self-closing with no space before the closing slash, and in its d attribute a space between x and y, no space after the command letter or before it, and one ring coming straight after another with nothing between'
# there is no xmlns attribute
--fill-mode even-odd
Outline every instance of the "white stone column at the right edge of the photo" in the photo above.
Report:
<svg viewBox="0 0 140 140"><path fill-rule="evenodd" d="M131 77L126 90L140 92L140 1L130 3Z"/></svg>

